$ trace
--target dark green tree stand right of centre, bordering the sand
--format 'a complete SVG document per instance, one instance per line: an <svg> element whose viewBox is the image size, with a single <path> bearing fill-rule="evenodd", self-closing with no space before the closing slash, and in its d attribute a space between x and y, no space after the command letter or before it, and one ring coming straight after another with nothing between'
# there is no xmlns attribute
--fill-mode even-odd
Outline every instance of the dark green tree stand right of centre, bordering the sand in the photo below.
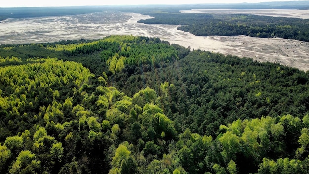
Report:
<svg viewBox="0 0 309 174"><path fill-rule="evenodd" d="M123 79L125 78L125 79ZM174 85L165 99L168 117L183 128L214 135L220 124L241 118L308 112L309 77L303 71L279 64L193 51L171 66L131 75L120 73L113 85L140 89L140 79L159 92L159 85ZM119 83L117 83L119 82ZM120 84L121 83L121 84ZM127 88L123 91L127 92ZM134 90L133 90L134 91ZM136 91L134 91L136 92Z"/></svg>

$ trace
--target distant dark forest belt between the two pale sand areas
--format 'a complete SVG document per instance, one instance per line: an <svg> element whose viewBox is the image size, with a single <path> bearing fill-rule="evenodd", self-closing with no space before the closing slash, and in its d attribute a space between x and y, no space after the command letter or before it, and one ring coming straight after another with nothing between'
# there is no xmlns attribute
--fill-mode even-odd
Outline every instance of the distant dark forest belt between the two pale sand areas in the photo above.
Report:
<svg viewBox="0 0 309 174"><path fill-rule="evenodd" d="M198 36L246 35L309 41L309 19L245 14L194 14L179 12L144 12L155 18L140 20L145 24L180 25L177 29Z"/></svg>

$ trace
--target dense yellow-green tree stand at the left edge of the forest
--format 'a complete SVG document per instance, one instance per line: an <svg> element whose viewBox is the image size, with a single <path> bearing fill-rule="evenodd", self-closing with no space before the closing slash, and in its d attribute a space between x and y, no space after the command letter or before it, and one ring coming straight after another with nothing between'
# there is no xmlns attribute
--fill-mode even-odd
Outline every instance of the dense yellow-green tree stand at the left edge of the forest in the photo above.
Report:
<svg viewBox="0 0 309 174"><path fill-rule="evenodd" d="M19 116L24 114L23 108L33 107L33 102L38 102L39 93L42 90L50 92L51 100L60 97L59 91L54 87L65 87L69 84L80 87L88 81L92 76L89 69L86 69L80 63L57 60L56 58L48 59L27 59L23 62L16 57L6 58L1 60L21 62L17 65L0 67L0 83L3 93L0 89L0 108L5 109L12 115ZM2 61L2 62L4 62ZM35 98L29 102L28 98ZM62 109L62 108L61 108ZM59 110L59 109L58 109ZM19 113L22 112L22 113ZM50 116L59 116L59 111L50 110L54 113ZM46 116L47 119L47 116ZM46 120L48 121L48 120Z"/></svg>

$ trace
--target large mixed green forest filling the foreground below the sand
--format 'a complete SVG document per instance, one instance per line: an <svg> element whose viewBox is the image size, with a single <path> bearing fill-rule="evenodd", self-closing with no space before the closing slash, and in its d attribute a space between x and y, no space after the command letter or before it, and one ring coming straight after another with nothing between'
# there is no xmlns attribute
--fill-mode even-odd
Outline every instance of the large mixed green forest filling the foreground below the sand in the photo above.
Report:
<svg viewBox="0 0 309 174"><path fill-rule="evenodd" d="M2 174L308 174L309 72L109 36L0 45Z"/></svg>

